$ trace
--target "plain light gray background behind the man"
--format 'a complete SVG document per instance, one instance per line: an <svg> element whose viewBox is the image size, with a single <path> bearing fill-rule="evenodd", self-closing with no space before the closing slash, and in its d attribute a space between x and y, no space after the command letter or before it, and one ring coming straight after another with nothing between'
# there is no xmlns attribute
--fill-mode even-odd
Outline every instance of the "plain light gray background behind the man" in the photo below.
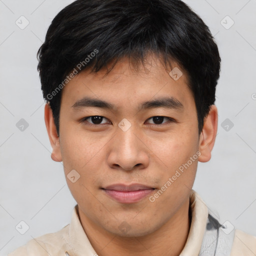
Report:
<svg viewBox="0 0 256 256"><path fill-rule="evenodd" d="M75 205L62 163L50 158L36 70L46 30L70 2L0 0L0 255L61 229ZM211 160L198 165L194 189L222 223L256 235L256 0L185 2L209 26L222 58L218 135ZM24 29L15 24L21 15L29 21ZM234 21L229 29L226 15ZM24 131L16 127L21 118L29 124ZM228 131L221 127L226 118L234 124ZM29 225L23 235L15 229L21 220Z"/></svg>

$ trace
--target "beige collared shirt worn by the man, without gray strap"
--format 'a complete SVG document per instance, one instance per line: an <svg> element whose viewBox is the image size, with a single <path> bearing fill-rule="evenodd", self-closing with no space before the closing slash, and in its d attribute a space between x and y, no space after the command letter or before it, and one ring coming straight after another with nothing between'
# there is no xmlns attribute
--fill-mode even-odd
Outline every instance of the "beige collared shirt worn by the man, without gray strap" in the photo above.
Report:
<svg viewBox="0 0 256 256"><path fill-rule="evenodd" d="M186 244L180 256L198 256L208 209L199 195L192 190L190 193L192 221ZM28 241L8 256L96 256L77 214L77 205L72 212L70 224L55 233L48 233ZM235 230L230 256L255 256L256 237ZM201 256L204 256L203 253ZM218 256L218 255L215 255Z"/></svg>

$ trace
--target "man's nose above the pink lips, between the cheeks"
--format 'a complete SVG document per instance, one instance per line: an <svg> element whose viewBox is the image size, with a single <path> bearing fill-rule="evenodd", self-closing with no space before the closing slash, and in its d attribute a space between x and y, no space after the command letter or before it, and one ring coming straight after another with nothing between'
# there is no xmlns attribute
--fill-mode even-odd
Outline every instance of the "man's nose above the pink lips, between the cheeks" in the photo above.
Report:
<svg viewBox="0 0 256 256"><path fill-rule="evenodd" d="M149 149L143 142L146 138L142 133L135 125L131 125L126 131L117 128L107 159L111 168L128 171L148 166Z"/></svg>

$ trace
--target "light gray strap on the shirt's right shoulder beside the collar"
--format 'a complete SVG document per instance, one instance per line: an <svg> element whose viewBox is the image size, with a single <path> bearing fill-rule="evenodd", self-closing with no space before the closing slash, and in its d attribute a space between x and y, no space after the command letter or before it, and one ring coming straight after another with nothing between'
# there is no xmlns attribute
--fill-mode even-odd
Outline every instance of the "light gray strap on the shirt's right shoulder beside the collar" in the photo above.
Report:
<svg viewBox="0 0 256 256"><path fill-rule="evenodd" d="M234 228L226 221L221 225L208 214L199 256L229 256L234 239Z"/></svg>

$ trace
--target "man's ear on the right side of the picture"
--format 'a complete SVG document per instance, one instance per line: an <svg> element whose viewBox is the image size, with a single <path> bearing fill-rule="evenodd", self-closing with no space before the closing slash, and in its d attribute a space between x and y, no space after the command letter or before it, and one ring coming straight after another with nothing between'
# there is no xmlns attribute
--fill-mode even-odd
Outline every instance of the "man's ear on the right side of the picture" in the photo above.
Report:
<svg viewBox="0 0 256 256"><path fill-rule="evenodd" d="M218 125L218 112L215 105L210 106L208 115L204 118L203 128L199 137L199 151L201 155L198 161L207 162L211 157Z"/></svg>

